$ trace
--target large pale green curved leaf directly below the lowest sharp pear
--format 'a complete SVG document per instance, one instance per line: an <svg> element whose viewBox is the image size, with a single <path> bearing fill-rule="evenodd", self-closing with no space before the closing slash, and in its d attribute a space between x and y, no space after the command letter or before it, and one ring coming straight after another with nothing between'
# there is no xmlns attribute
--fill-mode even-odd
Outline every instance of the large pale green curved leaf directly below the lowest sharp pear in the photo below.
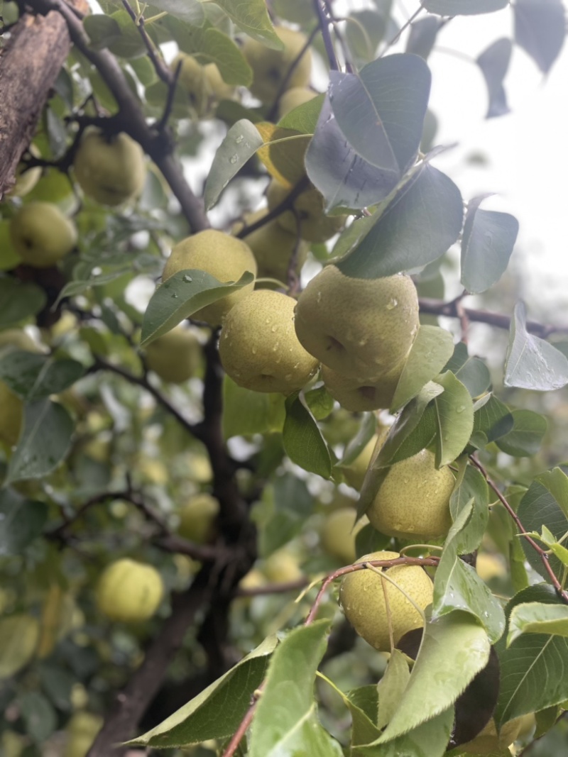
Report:
<svg viewBox="0 0 568 757"><path fill-rule="evenodd" d="M487 634L465 612L451 612L427 623L401 704L378 743L407 734L450 708L485 668L489 650Z"/></svg>

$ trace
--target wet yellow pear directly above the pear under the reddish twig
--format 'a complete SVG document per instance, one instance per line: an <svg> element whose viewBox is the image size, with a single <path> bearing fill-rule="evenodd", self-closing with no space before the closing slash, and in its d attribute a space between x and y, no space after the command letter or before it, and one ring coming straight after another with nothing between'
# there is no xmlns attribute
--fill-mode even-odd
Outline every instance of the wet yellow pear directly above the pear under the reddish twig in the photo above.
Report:
<svg viewBox="0 0 568 757"><path fill-rule="evenodd" d="M437 539L450 530L450 497L455 479L448 466L435 468L434 453L422 450L395 463L367 516L387 536Z"/></svg>

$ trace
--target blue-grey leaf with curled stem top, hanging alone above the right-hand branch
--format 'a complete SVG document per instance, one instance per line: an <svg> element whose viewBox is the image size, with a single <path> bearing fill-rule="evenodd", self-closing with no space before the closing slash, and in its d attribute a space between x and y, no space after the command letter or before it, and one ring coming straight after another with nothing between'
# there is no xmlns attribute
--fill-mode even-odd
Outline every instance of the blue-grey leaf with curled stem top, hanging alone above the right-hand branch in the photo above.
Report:
<svg viewBox="0 0 568 757"><path fill-rule="evenodd" d="M479 294L501 279L519 232L514 216L481 210L481 200L470 202L461 240L461 282L470 294Z"/></svg>

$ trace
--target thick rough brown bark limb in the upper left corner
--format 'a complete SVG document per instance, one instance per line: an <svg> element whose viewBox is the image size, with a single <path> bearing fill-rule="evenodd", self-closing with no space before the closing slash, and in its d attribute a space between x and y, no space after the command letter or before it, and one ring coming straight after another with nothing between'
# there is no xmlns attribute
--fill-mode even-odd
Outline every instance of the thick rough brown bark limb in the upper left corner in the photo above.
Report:
<svg viewBox="0 0 568 757"><path fill-rule="evenodd" d="M0 51L0 199L14 184L17 164L70 46L61 14L23 14Z"/></svg>

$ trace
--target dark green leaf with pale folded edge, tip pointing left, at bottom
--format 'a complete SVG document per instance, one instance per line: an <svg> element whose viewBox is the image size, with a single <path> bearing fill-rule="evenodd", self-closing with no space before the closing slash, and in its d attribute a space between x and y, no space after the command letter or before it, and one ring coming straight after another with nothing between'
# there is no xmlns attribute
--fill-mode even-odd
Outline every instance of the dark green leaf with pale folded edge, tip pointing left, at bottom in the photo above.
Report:
<svg viewBox="0 0 568 757"><path fill-rule="evenodd" d="M264 679L276 643L274 636L265 639L177 712L127 744L166 749L232 736Z"/></svg>

